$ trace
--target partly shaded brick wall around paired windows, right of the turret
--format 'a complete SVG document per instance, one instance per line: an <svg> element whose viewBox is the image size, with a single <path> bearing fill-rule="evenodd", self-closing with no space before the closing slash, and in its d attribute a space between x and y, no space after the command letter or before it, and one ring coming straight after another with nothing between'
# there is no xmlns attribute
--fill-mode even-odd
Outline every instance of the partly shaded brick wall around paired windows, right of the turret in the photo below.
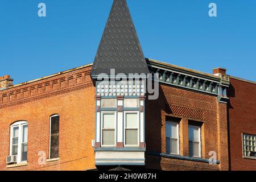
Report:
<svg viewBox="0 0 256 182"><path fill-rule="evenodd" d="M226 104L216 96L161 84L158 100L146 101L147 151L166 153L166 116L183 118L180 122L180 154L188 156L188 120L203 122L202 158L216 151L220 165L146 156L146 168L163 170L228 170L228 133Z"/></svg>

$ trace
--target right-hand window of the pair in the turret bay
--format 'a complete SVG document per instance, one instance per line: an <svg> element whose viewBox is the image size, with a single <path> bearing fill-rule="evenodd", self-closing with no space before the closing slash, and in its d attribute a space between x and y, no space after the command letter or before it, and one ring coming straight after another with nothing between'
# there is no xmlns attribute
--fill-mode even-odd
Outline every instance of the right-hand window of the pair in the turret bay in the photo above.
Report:
<svg viewBox="0 0 256 182"><path fill-rule="evenodd" d="M125 112L125 145L138 146L138 112Z"/></svg>

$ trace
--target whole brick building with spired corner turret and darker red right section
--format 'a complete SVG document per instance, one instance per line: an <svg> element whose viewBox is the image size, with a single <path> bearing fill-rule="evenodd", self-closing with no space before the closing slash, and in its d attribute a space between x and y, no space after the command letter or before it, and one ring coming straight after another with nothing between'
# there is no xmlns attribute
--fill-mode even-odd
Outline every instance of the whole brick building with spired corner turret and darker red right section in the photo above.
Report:
<svg viewBox="0 0 256 182"><path fill-rule="evenodd" d="M255 170L255 85L145 59L115 0L93 64L0 77L0 170Z"/></svg>

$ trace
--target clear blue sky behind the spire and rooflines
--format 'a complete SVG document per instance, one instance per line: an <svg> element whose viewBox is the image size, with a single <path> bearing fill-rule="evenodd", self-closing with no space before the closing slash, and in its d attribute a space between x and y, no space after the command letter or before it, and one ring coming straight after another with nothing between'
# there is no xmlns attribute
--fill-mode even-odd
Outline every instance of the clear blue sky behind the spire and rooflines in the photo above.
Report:
<svg viewBox="0 0 256 182"><path fill-rule="evenodd" d="M47 17L39 18L38 4ZM92 63L113 0L0 0L0 76L14 83ZM210 2L217 17L208 16ZM127 0L144 55L256 81L255 0Z"/></svg>

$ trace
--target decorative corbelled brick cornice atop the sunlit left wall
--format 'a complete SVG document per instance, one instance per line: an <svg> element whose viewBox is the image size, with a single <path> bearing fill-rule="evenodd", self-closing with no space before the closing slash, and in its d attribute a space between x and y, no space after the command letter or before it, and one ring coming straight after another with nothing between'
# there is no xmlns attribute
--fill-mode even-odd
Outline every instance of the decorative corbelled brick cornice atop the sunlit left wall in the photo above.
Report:
<svg viewBox="0 0 256 182"><path fill-rule="evenodd" d="M23 102L93 86L90 79L90 68L84 67L76 71L2 90L0 91L0 107L21 104Z"/></svg>

